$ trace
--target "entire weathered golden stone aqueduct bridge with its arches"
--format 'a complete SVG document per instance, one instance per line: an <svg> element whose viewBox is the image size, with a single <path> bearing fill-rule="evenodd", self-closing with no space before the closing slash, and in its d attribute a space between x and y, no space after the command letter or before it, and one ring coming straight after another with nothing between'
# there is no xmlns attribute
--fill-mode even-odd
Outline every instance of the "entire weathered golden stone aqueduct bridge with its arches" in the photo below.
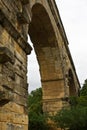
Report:
<svg viewBox="0 0 87 130"><path fill-rule="evenodd" d="M0 0L0 130L28 130L27 55L40 66L43 111L78 95L79 81L55 0Z"/></svg>

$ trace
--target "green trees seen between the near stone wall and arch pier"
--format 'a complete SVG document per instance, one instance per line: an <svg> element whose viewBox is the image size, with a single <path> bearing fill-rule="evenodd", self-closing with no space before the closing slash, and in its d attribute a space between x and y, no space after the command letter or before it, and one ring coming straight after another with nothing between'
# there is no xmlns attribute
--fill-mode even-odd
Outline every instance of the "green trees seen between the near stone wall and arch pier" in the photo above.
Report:
<svg viewBox="0 0 87 130"><path fill-rule="evenodd" d="M42 110L42 88L28 96L29 130L48 130L47 115Z"/></svg>

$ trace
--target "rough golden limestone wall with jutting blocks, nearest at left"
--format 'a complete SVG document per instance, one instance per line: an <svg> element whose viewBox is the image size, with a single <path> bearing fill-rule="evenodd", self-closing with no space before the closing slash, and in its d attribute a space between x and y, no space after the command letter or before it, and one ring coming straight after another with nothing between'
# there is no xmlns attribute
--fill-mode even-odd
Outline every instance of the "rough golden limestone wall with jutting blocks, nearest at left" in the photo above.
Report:
<svg viewBox="0 0 87 130"><path fill-rule="evenodd" d="M28 130L26 2L0 0L0 130Z"/></svg>

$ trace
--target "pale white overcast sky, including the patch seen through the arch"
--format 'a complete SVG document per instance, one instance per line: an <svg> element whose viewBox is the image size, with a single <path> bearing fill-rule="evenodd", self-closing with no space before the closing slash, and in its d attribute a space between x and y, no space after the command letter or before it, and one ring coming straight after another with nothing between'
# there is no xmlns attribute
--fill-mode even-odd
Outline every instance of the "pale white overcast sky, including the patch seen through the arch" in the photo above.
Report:
<svg viewBox="0 0 87 130"><path fill-rule="evenodd" d="M69 41L69 48L81 84L87 78L87 0L56 0ZM29 91L41 87L35 54L28 62Z"/></svg>

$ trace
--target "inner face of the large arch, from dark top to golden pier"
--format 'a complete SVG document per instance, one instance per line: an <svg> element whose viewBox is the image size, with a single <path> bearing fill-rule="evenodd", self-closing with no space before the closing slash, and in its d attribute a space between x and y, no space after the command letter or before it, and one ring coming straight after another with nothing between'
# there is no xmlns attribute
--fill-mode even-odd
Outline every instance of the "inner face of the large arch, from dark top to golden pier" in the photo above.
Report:
<svg viewBox="0 0 87 130"><path fill-rule="evenodd" d="M49 14L39 3L32 7L29 36L40 67L43 110L44 112L57 111L58 107L61 107L58 106L59 98L64 97L60 53Z"/></svg>

